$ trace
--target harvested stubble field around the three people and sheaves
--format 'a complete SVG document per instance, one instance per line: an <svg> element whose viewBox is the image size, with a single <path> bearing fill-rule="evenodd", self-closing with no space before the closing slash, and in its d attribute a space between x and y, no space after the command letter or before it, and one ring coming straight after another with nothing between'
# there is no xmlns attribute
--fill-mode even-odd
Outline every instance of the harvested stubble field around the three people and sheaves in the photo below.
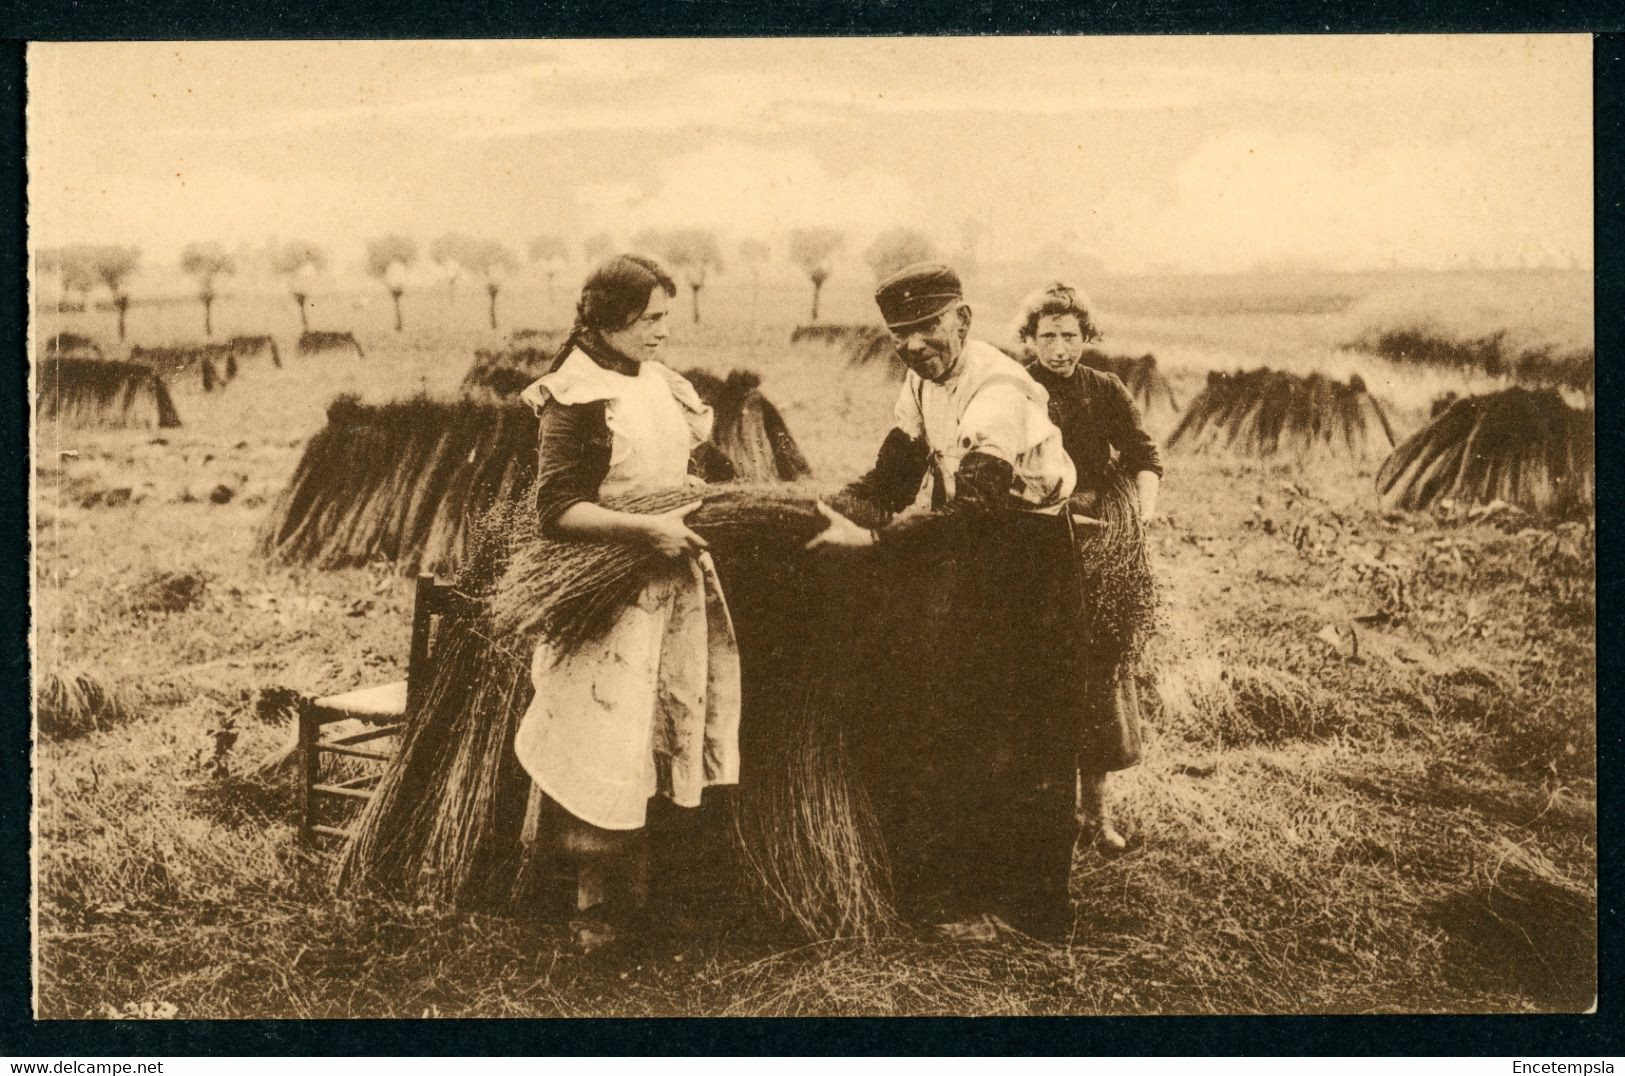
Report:
<svg viewBox="0 0 1625 1076"><path fill-rule="evenodd" d="M726 280L726 278L725 278ZM868 320L832 281L830 320ZM730 286L733 291L730 291ZM216 336L275 333L223 393L176 387L179 429L36 429L36 676L117 705L36 743L41 1017L1583 1011L1596 996L1594 527L1511 510L1376 509L1367 463L1170 453L1150 530L1160 631L1146 762L1113 783L1131 850L1079 858L1069 946L760 931L574 956L543 917L335 899L294 840L273 686L403 671L411 584L385 566L268 566L254 536L341 392L455 390L483 294L318 301L367 356L297 356L278 294L226 296ZM973 294L1003 338L1022 288ZM567 288L504 296L556 327ZM1342 349L1373 327L1497 328L1589 346L1584 273L1105 280L1113 351L1207 371L1358 372L1398 436L1492 382ZM364 301L364 302L362 302ZM749 367L814 475L858 475L894 385L785 341L806 294L739 281L674 327L673 366ZM1539 314L1536 317L1534 314ZM112 345L112 314L44 312ZM130 343L198 340L195 302L135 306ZM1173 418L1154 414L1154 432Z"/></svg>

